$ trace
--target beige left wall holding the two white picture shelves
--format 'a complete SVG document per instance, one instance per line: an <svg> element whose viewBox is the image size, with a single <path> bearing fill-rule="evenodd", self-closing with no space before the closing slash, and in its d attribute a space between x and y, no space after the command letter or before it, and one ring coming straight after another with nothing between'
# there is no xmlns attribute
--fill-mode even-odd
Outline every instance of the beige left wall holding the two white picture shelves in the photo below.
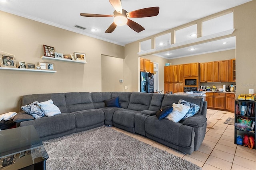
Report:
<svg viewBox="0 0 256 170"><path fill-rule="evenodd" d="M0 51L14 54L16 61L52 62L56 73L0 70L0 113L19 111L26 94L100 92L102 54L124 58L124 47L0 12ZM42 45L59 53L86 53L86 64L42 60ZM119 79L119 78L117 78Z"/></svg>

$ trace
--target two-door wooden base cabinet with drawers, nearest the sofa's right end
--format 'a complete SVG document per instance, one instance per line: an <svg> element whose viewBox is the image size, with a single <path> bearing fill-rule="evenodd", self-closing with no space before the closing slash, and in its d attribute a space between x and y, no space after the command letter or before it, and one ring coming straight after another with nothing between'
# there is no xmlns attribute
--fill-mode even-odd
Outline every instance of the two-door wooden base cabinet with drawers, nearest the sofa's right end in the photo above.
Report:
<svg viewBox="0 0 256 170"><path fill-rule="evenodd" d="M225 109L225 93L206 92L207 108Z"/></svg>

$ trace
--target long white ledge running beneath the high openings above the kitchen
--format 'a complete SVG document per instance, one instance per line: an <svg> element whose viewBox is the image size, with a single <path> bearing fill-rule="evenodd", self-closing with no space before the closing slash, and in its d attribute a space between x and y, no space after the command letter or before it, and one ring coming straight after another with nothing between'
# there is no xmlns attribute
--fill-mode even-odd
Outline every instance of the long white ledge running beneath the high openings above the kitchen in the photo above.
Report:
<svg viewBox="0 0 256 170"><path fill-rule="evenodd" d="M157 48L157 49L150 49L150 50L147 50L147 51L141 51L141 52L138 53L138 55L140 57L140 56L155 54L155 53L159 53L159 52L163 52L163 51L171 51L171 50L174 50L174 49L183 48L184 45L188 46L188 45L193 44L193 43L203 44L203 43L208 43L208 42L211 42L211 41L215 41L217 39L224 39L224 38L227 38L227 37L232 37L231 34L234 32L234 30L235 29L230 29L230 30L227 30L227 31L222 31L220 33L215 33L215 34L207 35L207 36L204 36L204 37L198 37L196 39L191 39L189 41L184 41L184 42L180 42L180 43L167 45L165 47L160 47L160 48ZM230 36L228 36L228 35L230 35Z"/></svg>

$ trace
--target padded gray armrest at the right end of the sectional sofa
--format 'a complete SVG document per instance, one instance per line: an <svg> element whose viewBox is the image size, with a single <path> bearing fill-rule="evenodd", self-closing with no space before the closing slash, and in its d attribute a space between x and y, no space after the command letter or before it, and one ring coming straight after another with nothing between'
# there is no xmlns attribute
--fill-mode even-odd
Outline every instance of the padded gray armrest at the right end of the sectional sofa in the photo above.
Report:
<svg viewBox="0 0 256 170"><path fill-rule="evenodd" d="M207 121L207 118L204 115L196 114L188 119L185 119L182 124L192 127L202 127Z"/></svg>

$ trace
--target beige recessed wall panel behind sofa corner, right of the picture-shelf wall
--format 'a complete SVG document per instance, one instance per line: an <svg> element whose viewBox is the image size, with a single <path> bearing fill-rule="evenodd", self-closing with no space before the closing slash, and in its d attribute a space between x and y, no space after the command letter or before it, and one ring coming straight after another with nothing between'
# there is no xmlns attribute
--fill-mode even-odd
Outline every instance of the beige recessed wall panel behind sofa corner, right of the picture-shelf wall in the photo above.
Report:
<svg viewBox="0 0 256 170"><path fill-rule="evenodd" d="M123 79L124 59L102 55L101 57L101 90L102 92L122 92L124 83L119 80Z"/></svg>

